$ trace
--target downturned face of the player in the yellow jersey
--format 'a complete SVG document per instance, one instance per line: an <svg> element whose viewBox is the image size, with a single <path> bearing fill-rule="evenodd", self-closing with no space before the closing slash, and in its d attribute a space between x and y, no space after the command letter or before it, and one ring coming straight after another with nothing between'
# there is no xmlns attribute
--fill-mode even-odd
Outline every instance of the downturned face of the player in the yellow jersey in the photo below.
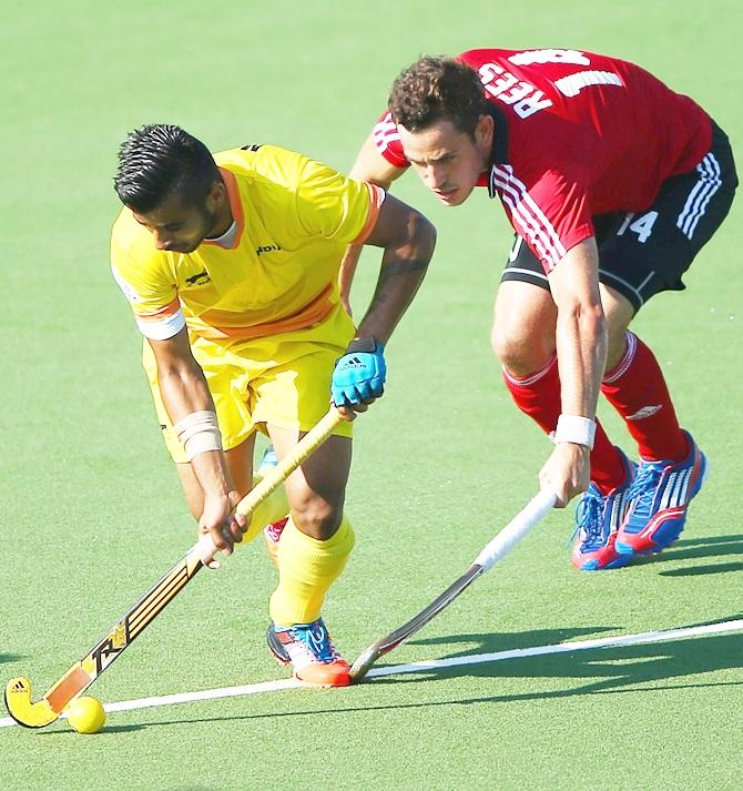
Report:
<svg viewBox="0 0 743 791"><path fill-rule="evenodd" d="M217 212L211 199L210 195L200 206L184 203L181 195L174 193L146 214L134 212L134 219L150 231L157 250L193 253L215 232Z"/></svg>

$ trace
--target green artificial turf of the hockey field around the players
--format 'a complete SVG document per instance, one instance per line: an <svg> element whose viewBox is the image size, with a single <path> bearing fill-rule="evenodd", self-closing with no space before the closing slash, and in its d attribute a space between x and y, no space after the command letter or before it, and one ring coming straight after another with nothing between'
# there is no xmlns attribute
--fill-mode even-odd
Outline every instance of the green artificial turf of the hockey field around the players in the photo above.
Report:
<svg viewBox="0 0 743 791"><path fill-rule="evenodd" d="M40 696L183 554L194 526L162 447L140 338L108 266L119 143L147 122L218 150L273 142L347 170L421 52L610 52L701 101L741 152L739 4L689 0L13 4L0 26L3 255L0 669ZM326 618L355 657L436 597L537 487L549 445L511 405L488 332L510 241L478 193L439 206L420 294L357 423L357 548ZM635 328L712 477L688 531L628 569L580 575L551 514L380 665L739 619L743 528L740 205ZM360 313L378 257L359 266ZM614 442L631 452L614 415ZM271 681L274 570L256 542L203 572L91 689L106 702ZM676 791L741 788L743 637L622 646L0 728L2 791Z"/></svg>

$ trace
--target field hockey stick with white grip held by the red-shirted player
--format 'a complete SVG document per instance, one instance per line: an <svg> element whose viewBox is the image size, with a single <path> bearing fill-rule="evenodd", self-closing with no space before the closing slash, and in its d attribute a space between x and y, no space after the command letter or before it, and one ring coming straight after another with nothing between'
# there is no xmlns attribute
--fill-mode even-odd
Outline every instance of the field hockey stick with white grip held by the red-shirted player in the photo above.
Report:
<svg viewBox="0 0 743 791"><path fill-rule="evenodd" d="M529 504L519 511L500 533L486 545L480 554L475 558L472 565L462 574L456 582L452 582L440 596L420 610L411 618L389 635L373 642L350 668L350 678L354 682L360 681L369 671L372 666L410 636L415 635L426 623L429 623L436 616L448 607L464 590L466 590L481 574L485 574L498 560L506 557L508 552L531 530L538 521L554 506L557 497L554 493L542 489Z"/></svg>

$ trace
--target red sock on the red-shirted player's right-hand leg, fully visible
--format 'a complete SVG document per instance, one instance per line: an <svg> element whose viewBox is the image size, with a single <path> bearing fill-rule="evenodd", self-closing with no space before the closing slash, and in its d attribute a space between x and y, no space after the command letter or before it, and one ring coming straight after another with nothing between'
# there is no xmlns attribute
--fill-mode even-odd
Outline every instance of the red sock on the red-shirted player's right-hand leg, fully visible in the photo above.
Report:
<svg viewBox="0 0 743 791"><path fill-rule="evenodd" d="M642 458L681 462L686 456L686 439L663 373L653 353L633 333L628 331L627 352L603 377L601 392L624 418Z"/></svg>

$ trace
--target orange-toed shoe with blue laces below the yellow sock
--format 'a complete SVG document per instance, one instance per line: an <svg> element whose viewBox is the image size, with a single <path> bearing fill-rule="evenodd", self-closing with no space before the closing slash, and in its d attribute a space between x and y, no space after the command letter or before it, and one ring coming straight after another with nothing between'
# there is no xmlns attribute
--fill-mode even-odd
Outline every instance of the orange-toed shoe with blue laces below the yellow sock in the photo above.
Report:
<svg viewBox="0 0 743 791"><path fill-rule="evenodd" d="M347 687L350 683L350 666L336 651L322 618L288 627L271 623L266 642L276 661L292 665L294 678L309 687Z"/></svg>

